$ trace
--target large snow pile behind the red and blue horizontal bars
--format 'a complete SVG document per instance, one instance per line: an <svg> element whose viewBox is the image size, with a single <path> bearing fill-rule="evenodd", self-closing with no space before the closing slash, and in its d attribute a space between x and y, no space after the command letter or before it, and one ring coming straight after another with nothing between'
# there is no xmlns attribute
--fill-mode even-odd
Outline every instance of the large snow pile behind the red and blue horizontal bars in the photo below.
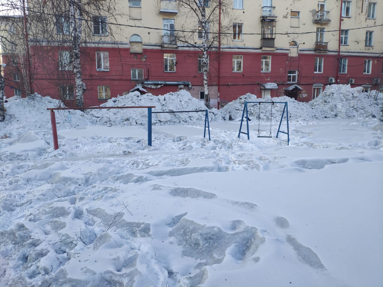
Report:
<svg viewBox="0 0 383 287"><path fill-rule="evenodd" d="M103 107L115 106L155 106L152 109L152 124L198 124L205 121L205 113L160 113L160 111L206 110L203 101L193 98L188 91L181 90L165 95L154 96L151 93L141 95L138 91L101 104ZM92 124L97 125L147 125L147 109L99 109L86 112ZM218 119L214 111L209 111L209 120Z"/></svg>

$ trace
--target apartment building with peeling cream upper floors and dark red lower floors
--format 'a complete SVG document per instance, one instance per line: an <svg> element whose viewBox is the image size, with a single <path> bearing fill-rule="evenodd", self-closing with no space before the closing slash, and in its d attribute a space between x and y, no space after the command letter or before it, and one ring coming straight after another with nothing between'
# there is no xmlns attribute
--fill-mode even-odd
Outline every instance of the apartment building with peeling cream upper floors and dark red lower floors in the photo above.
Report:
<svg viewBox="0 0 383 287"><path fill-rule="evenodd" d="M119 18L105 13L84 19L91 32L81 48L85 106L137 84L154 95L186 89L203 100L204 33L197 15L202 5L207 13L214 10L206 26L211 106L246 93L308 102L329 84L381 89L383 18L378 11L383 0L221 0L221 5L200 0L196 14L177 0L129 0L119 4ZM58 38L71 34L65 13L50 18ZM189 36L182 38L182 33ZM69 46L28 35L32 90L74 105ZM15 56L25 56L5 46L3 62L10 64L4 71L5 93L10 97L22 93L21 79L11 71L20 62Z"/></svg>

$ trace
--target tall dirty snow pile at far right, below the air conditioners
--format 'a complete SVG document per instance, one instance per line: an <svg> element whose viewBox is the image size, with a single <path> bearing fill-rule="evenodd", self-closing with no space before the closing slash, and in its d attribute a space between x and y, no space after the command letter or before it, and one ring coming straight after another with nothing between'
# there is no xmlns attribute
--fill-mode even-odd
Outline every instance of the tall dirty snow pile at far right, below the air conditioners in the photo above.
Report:
<svg viewBox="0 0 383 287"><path fill-rule="evenodd" d="M329 85L323 93L309 103L318 118L340 117L342 119L370 119L379 117L383 94L372 91L370 96L362 87ZM376 95L376 93L378 93ZM374 96L377 99L374 100Z"/></svg>

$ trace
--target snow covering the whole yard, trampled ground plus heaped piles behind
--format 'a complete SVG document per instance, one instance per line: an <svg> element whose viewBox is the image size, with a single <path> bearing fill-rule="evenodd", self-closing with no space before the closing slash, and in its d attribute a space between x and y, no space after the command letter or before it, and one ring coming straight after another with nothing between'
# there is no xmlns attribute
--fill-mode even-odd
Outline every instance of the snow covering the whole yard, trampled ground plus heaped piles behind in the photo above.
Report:
<svg viewBox="0 0 383 287"><path fill-rule="evenodd" d="M250 94L209 111L210 141L204 113L153 114L152 147L146 109L61 111L58 150L46 108L59 103L10 98L0 286L381 287L378 98L347 85L311 103L278 98L290 145L275 137L280 104L272 138L257 138L268 104L249 104L250 140L238 138L244 101L262 101ZM104 105L204 109L185 91Z"/></svg>

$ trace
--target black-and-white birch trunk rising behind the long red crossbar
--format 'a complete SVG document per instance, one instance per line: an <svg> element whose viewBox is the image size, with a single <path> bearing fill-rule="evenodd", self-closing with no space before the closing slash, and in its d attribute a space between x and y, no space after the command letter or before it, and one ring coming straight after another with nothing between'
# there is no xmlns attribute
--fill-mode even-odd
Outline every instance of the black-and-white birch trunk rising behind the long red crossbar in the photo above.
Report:
<svg viewBox="0 0 383 287"><path fill-rule="evenodd" d="M84 106L84 83L82 82L81 62L80 62L80 44L82 34L82 20L79 8L81 0L77 3L71 1L70 4L70 24L72 26L72 57L73 57L73 73L76 87L76 106Z"/></svg>

